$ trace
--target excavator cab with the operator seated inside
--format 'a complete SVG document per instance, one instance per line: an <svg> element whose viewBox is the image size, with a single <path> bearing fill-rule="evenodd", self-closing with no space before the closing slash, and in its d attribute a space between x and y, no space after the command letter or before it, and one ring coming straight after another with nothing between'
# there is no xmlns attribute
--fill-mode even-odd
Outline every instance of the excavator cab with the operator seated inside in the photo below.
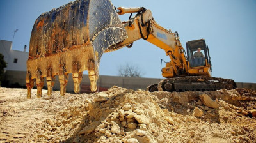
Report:
<svg viewBox="0 0 256 143"><path fill-rule="evenodd" d="M188 41L188 67L191 75L211 76L211 57L204 39Z"/></svg>

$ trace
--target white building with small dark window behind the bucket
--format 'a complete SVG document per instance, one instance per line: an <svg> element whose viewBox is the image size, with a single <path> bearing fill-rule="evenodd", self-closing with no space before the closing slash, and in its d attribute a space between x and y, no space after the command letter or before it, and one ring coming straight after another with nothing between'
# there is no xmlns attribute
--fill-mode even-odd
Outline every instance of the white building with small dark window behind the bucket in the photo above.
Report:
<svg viewBox="0 0 256 143"><path fill-rule="evenodd" d="M0 40L0 53L4 56L7 63L5 70L26 71L28 52L26 46L24 51L12 50L12 41Z"/></svg>

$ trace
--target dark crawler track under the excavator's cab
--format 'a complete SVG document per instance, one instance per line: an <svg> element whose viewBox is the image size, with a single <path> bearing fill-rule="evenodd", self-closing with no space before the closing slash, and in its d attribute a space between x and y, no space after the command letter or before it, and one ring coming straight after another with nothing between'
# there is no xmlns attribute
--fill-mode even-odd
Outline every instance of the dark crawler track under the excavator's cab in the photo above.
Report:
<svg viewBox="0 0 256 143"><path fill-rule="evenodd" d="M157 90L156 90L157 88ZM148 86L153 91L215 91L218 89L234 89L236 82L231 79L204 76L173 77L163 79L158 84Z"/></svg>

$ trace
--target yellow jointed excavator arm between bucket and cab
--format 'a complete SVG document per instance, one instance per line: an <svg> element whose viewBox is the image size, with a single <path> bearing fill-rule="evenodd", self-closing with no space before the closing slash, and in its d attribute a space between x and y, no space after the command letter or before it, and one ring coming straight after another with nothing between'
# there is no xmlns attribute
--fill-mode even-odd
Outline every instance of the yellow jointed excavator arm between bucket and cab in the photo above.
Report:
<svg viewBox="0 0 256 143"><path fill-rule="evenodd" d="M188 71L186 56L184 55L184 48L182 47L179 35L177 32L164 29L159 26L152 17L152 12L145 8L118 8L118 14L137 13L135 17L123 22L128 38L124 41L113 45L109 50L120 49L124 46L131 46L131 44L140 40L141 38L163 49L166 56L170 57L171 66L173 70L172 75L164 75L164 77L179 76Z"/></svg>

